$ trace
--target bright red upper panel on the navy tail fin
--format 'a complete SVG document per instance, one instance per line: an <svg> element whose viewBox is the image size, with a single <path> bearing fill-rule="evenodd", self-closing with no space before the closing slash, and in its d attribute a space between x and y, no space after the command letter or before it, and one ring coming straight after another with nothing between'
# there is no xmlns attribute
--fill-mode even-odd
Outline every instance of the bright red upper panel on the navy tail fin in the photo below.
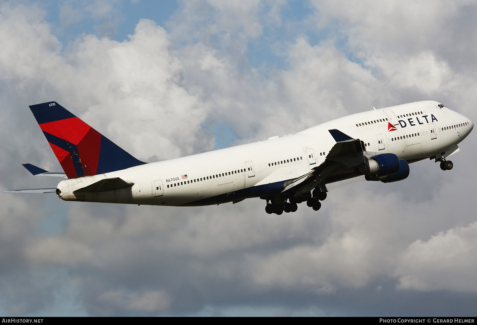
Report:
<svg viewBox="0 0 477 325"><path fill-rule="evenodd" d="M91 126L84 123L78 117L43 123L40 124L40 127L42 131L48 132L52 136L59 137L75 145L78 145L91 129Z"/></svg>

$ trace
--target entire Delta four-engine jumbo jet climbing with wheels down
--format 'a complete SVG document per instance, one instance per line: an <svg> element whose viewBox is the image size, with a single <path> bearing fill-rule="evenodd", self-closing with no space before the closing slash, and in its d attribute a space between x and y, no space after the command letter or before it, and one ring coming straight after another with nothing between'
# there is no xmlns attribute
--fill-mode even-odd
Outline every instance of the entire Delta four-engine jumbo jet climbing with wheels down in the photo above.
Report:
<svg viewBox="0 0 477 325"><path fill-rule="evenodd" d="M266 200L267 213L313 210L326 185L364 176L391 183L409 164L430 159L450 170L449 156L472 131L464 115L436 101L421 101L341 117L296 134L145 163L131 156L56 102L29 106L63 172L23 166L36 176L63 179L53 189L65 201L159 206L204 206Z"/></svg>

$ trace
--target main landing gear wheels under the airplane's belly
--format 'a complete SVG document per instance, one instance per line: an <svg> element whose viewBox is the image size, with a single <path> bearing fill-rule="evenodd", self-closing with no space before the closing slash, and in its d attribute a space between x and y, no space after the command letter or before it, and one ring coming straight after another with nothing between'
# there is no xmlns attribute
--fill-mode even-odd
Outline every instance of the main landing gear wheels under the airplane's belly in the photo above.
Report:
<svg viewBox="0 0 477 325"><path fill-rule="evenodd" d="M321 202L324 199L326 199L326 192L322 192L320 188L316 188L313 190L313 195L311 195L310 192L303 194L300 197L291 197L288 199L289 202L287 202L287 199L284 201L282 200L281 203L279 203L278 199L269 199L269 198L263 198L267 199L267 205L265 206L265 211L268 214L276 213L276 214L282 214L283 212L295 212L298 209L298 204L301 202L306 201L306 205L312 208L315 211L320 210L321 208ZM270 202L269 202L270 200Z"/></svg>

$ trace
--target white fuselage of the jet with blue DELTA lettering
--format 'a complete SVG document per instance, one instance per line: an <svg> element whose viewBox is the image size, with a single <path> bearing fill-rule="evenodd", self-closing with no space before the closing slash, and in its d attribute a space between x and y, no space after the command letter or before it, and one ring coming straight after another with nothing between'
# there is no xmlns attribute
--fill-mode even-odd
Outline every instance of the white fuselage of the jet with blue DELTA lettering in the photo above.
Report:
<svg viewBox="0 0 477 325"><path fill-rule="evenodd" d="M388 131L389 124L394 124L394 130ZM473 127L467 117L435 101L415 102L341 117L289 136L63 180L58 189L64 200L167 206L266 197L280 193L285 181L325 160L336 144L330 129L361 139L367 151L394 153L413 162L455 146ZM98 180L116 177L134 185L83 197L73 194Z"/></svg>

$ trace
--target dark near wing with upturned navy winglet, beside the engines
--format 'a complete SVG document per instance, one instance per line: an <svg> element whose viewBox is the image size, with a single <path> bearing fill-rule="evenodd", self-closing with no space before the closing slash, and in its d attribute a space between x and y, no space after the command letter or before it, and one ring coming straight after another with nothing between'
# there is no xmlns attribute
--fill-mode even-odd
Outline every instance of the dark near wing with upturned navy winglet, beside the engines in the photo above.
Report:
<svg viewBox="0 0 477 325"><path fill-rule="evenodd" d="M285 184L282 193L288 192L294 197L301 196L319 186L327 178L354 174L355 168L364 163L364 150L359 139L353 139L336 129L328 131L336 144L326 156L325 161L313 168L311 172Z"/></svg>

